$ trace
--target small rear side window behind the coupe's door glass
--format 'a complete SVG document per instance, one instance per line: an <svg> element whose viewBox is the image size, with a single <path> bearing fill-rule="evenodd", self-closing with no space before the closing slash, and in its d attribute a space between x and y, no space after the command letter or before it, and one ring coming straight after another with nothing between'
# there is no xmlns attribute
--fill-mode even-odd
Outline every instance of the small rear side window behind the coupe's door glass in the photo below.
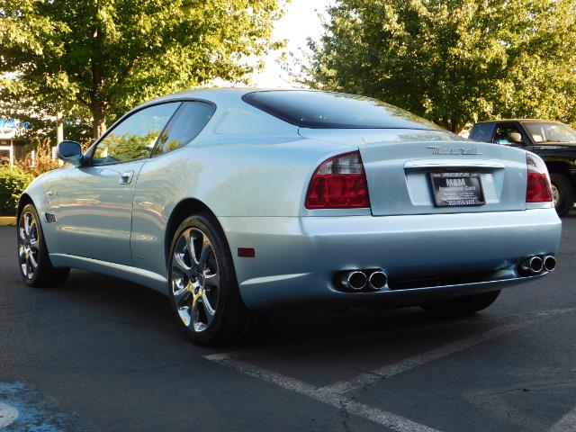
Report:
<svg viewBox="0 0 576 432"><path fill-rule="evenodd" d="M214 113L214 106L204 102L184 102L162 132L152 156L185 146L204 129Z"/></svg>

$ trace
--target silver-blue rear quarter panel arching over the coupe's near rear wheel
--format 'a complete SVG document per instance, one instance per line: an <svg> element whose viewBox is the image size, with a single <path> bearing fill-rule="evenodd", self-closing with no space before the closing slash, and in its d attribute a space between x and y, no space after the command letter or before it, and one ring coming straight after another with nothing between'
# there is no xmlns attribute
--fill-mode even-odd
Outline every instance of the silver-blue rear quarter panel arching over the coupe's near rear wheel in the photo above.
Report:
<svg viewBox="0 0 576 432"><path fill-rule="evenodd" d="M188 198L206 204L219 219L300 216L312 171L325 158L347 150L294 134L203 141L149 160L134 195L134 265L166 275L167 221Z"/></svg>

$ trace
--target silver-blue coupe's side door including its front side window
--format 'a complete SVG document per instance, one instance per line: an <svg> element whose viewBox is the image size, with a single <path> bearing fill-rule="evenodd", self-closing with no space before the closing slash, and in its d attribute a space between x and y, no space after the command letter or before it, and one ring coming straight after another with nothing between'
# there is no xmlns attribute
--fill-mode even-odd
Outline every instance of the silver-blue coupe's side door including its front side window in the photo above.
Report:
<svg viewBox="0 0 576 432"><path fill-rule="evenodd" d="M131 266L130 229L139 171L179 102L130 113L69 170L58 191L58 231L64 253Z"/></svg>

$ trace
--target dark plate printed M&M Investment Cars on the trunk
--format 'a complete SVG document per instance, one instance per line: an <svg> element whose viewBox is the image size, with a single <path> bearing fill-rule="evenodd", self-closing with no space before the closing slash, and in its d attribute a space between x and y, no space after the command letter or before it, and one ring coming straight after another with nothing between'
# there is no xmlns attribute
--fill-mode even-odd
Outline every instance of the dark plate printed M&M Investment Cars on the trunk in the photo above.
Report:
<svg viewBox="0 0 576 432"><path fill-rule="evenodd" d="M430 173L437 207L482 205L484 193L480 173Z"/></svg>

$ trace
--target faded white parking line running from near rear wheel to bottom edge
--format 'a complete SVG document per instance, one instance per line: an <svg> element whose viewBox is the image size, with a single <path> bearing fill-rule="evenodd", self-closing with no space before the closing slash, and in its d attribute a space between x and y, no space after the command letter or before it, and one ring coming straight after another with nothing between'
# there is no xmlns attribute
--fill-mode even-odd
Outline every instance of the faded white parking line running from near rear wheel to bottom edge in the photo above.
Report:
<svg viewBox="0 0 576 432"><path fill-rule="evenodd" d="M378 423L386 428L391 428L399 432L438 432L437 429L428 428L428 426L421 425L410 419L404 419L392 412L378 410L364 403L353 401L346 396L317 389L310 384L303 383L290 376L276 374L275 372L247 364L227 355L213 354L204 357L220 365L229 366L242 374L247 374L268 383L274 383L286 390L297 392L316 401L326 403L338 410L347 410L350 414L374 421L374 423Z"/></svg>

